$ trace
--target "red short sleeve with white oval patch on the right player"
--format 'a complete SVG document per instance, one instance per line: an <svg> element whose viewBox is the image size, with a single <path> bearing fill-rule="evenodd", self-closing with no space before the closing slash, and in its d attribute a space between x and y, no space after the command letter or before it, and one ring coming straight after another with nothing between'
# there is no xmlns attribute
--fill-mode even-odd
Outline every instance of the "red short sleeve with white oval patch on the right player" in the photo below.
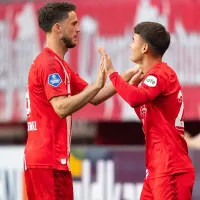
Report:
<svg viewBox="0 0 200 200"><path fill-rule="evenodd" d="M154 100L168 86L167 77L162 73L149 74L139 86L144 90L150 100Z"/></svg>

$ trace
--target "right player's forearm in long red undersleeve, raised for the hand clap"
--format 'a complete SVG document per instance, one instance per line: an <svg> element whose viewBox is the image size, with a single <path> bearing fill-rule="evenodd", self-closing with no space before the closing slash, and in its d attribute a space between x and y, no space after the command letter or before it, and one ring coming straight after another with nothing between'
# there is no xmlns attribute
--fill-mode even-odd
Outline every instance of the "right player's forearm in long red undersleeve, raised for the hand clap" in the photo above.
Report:
<svg viewBox="0 0 200 200"><path fill-rule="evenodd" d="M117 93L131 106L137 107L149 101L149 96L145 91L136 85L126 83L117 72L110 75L110 80Z"/></svg>

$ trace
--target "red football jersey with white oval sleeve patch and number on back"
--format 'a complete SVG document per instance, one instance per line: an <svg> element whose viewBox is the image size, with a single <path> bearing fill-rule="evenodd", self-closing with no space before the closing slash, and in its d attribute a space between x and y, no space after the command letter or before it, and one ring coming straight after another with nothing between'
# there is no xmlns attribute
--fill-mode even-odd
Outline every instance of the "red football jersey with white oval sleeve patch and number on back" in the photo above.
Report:
<svg viewBox="0 0 200 200"><path fill-rule="evenodd" d="M135 109L146 137L148 178L194 170L184 139L184 103L176 73L158 63L138 88L150 99Z"/></svg>

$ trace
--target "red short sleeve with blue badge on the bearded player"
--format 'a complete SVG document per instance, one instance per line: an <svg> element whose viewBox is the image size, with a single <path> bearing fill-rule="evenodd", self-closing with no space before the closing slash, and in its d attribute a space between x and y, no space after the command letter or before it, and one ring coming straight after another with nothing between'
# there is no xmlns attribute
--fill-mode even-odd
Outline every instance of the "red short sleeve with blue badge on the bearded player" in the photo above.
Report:
<svg viewBox="0 0 200 200"><path fill-rule="evenodd" d="M46 66L42 66L40 77L48 100L56 96L69 95L70 91L67 91L65 85L65 74L58 61L50 60Z"/></svg>

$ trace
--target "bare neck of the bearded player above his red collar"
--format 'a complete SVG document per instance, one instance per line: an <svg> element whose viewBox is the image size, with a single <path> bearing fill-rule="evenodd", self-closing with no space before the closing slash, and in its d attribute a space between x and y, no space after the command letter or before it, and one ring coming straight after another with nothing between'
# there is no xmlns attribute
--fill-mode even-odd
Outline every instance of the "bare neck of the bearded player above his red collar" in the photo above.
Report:
<svg viewBox="0 0 200 200"><path fill-rule="evenodd" d="M47 35L47 47L50 48L53 52L55 52L62 59L64 59L65 53L68 50L64 46L64 44L62 44L61 41L58 40L58 38L48 35Z"/></svg>

